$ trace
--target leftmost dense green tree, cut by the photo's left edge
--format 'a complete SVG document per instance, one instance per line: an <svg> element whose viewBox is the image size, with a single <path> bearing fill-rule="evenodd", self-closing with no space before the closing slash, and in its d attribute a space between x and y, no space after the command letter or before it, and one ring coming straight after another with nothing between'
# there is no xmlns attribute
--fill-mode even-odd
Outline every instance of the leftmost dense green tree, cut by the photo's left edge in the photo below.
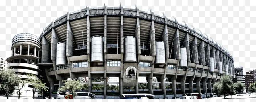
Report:
<svg viewBox="0 0 256 102"><path fill-rule="evenodd" d="M8 96L14 93L15 86L19 85L18 80L19 78L11 68L0 71L0 94L5 94L8 99Z"/></svg>

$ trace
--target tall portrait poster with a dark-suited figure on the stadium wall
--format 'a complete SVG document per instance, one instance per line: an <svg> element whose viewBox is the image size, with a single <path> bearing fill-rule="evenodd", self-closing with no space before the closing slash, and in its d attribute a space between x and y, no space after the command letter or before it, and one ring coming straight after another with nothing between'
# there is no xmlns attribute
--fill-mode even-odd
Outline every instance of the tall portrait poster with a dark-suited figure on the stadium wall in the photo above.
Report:
<svg viewBox="0 0 256 102"><path fill-rule="evenodd" d="M123 87L135 87L136 86L136 74L137 69L133 66L129 66L123 73Z"/></svg>

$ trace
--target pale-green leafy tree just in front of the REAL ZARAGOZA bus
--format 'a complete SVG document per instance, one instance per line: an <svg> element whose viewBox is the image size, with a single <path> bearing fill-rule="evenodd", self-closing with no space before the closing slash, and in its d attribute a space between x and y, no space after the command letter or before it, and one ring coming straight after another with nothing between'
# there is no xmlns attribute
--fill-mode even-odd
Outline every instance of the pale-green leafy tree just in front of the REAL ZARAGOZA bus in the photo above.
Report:
<svg viewBox="0 0 256 102"><path fill-rule="evenodd" d="M72 95L74 97L76 90L81 90L84 87L84 84L81 83L80 80L77 80L77 78L75 79L71 79L69 81L67 80L63 80L64 84L63 86L61 86L61 88L59 88L59 91L65 92L67 90L69 90L70 92L72 92Z"/></svg>

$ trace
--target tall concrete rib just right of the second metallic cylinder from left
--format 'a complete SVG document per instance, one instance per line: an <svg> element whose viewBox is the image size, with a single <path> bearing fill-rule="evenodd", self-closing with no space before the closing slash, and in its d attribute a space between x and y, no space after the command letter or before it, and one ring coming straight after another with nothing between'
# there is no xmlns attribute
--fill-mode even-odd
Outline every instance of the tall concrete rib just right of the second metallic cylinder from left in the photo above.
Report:
<svg viewBox="0 0 256 102"><path fill-rule="evenodd" d="M104 5L104 99L107 99L107 6Z"/></svg>

